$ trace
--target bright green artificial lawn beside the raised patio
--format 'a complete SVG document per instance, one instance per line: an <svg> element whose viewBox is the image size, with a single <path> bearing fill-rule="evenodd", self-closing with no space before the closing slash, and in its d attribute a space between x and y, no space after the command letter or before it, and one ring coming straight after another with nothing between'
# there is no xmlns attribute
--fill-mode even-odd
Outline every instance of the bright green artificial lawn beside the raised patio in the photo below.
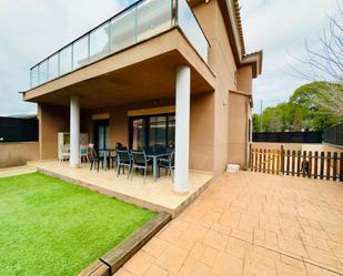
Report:
<svg viewBox="0 0 343 276"><path fill-rule="evenodd" d="M154 216L39 173L0 178L0 275L77 275Z"/></svg>

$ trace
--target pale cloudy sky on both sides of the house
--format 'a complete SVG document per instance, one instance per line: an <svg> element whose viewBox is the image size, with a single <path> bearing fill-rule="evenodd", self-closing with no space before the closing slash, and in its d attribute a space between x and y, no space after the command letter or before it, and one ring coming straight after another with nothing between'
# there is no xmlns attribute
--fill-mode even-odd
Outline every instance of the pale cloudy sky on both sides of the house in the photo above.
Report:
<svg viewBox="0 0 343 276"><path fill-rule="evenodd" d="M337 0L343 1L343 0ZM34 114L19 91L29 69L134 0L0 0L0 115ZM263 74L254 81L254 111L286 101L304 80L292 76L292 55L304 41L319 45L336 0L240 0L246 52L263 49Z"/></svg>

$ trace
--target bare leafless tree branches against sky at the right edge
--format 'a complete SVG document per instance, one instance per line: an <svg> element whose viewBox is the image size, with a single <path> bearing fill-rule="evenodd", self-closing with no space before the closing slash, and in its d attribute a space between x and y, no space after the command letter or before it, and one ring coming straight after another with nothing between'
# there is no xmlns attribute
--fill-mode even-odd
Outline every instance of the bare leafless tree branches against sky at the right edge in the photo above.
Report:
<svg viewBox="0 0 343 276"><path fill-rule="evenodd" d="M320 35L321 49L316 50L305 41L306 59L299 59L304 71L292 67L296 75L311 82L321 82L312 102L317 106L343 116L343 9L337 0L337 16L329 17L329 31Z"/></svg>

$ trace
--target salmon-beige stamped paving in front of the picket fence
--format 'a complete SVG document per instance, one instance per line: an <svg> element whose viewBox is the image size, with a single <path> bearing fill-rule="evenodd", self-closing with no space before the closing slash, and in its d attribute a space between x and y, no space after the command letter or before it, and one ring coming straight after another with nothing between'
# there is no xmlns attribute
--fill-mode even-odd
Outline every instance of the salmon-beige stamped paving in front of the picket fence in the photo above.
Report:
<svg viewBox="0 0 343 276"><path fill-rule="evenodd" d="M242 172L216 180L115 275L343 274L343 185Z"/></svg>

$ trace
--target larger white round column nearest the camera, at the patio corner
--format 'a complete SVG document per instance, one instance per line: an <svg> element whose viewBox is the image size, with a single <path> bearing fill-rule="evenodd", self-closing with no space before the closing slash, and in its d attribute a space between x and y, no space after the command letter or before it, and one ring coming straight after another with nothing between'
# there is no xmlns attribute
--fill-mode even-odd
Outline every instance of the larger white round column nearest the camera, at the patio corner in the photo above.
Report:
<svg viewBox="0 0 343 276"><path fill-rule="evenodd" d="M174 191L189 191L191 69L176 68Z"/></svg>

